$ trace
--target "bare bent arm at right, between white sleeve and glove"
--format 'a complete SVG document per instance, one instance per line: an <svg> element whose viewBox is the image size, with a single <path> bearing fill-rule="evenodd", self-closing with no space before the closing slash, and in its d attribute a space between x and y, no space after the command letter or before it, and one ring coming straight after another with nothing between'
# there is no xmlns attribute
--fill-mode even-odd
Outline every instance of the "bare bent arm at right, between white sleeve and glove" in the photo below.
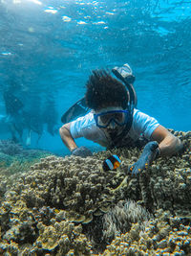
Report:
<svg viewBox="0 0 191 256"><path fill-rule="evenodd" d="M171 155L182 149L180 139L162 126L153 131L151 139L159 143L161 155Z"/></svg>

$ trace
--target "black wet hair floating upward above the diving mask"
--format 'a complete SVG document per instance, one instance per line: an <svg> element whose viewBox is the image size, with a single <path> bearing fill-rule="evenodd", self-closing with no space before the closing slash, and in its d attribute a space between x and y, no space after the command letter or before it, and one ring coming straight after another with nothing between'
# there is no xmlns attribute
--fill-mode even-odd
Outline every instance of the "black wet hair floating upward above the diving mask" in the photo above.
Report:
<svg viewBox="0 0 191 256"><path fill-rule="evenodd" d="M127 108L128 94L124 84L106 70L93 70L86 86L85 98L89 108L98 110L113 105Z"/></svg>

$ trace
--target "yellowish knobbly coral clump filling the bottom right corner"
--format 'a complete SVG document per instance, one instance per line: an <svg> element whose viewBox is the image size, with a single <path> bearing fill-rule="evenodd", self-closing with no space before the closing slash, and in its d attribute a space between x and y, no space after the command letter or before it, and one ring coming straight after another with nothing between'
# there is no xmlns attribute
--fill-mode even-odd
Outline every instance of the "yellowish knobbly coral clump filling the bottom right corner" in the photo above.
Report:
<svg viewBox="0 0 191 256"><path fill-rule="evenodd" d="M134 223L129 232L118 236L101 255L190 255L189 221L182 224L170 212L158 211L155 220L145 221L144 226L142 230L142 226Z"/></svg>

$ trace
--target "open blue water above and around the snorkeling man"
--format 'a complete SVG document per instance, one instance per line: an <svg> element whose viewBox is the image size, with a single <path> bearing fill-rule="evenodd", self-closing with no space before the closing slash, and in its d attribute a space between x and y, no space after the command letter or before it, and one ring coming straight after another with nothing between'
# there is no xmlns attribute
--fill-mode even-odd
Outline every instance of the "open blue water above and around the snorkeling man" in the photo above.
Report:
<svg viewBox="0 0 191 256"><path fill-rule="evenodd" d="M138 108L166 128L190 130L190 16L190 1L180 0L0 0L0 115L3 92L12 86L43 128L38 145L32 132L31 147L66 153L42 116L60 127L91 70L128 62Z"/></svg>

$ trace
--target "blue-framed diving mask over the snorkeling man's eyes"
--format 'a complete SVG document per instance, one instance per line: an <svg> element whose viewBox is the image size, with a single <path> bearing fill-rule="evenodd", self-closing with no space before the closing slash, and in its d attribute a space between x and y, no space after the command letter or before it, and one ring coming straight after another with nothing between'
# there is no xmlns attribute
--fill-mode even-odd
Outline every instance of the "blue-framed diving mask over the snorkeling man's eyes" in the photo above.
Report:
<svg viewBox="0 0 191 256"><path fill-rule="evenodd" d="M122 127L127 124L130 113L128 110L111 110L95 114L96 126L98 128L107 128L111 122Z"/></svg>

